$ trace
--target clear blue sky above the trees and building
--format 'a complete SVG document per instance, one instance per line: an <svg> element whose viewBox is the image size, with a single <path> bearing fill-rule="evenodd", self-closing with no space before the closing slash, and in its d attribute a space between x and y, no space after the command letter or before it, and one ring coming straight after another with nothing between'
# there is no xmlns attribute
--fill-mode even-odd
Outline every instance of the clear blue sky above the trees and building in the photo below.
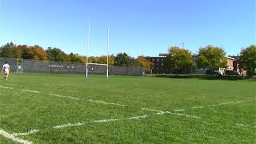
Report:
<svg viewBox="0 0 256 144"><path fill-rule="evenodd" d="M0 45L58 47L90 55L158 56L169 46L193 53L222 46L227 54L256 44L255 0L0 0Z"/></svg>

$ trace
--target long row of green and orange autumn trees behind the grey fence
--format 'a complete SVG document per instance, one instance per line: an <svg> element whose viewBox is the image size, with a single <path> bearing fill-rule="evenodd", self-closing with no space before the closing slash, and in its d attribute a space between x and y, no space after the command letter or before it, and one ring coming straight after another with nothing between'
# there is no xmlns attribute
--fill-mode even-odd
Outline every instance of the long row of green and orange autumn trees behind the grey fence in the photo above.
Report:
<svg viewBox="0 0 256 144"><path fill-rule="evenodd" d="M15 45L13 42L8 42L0 47L0 57L3 58L22 58L42 61L57 61L57 62L72 62L86 63L86 56L79 54L66 54L57 47L48 47L46 50L42 46L34 45ZM107 56L100 57L90 56L88 62L106 64ZM109 56L109 64L114 66L140 66L150 69L153 63L148 61L144 56L132 58L126 53L111 54Z"/></svg>

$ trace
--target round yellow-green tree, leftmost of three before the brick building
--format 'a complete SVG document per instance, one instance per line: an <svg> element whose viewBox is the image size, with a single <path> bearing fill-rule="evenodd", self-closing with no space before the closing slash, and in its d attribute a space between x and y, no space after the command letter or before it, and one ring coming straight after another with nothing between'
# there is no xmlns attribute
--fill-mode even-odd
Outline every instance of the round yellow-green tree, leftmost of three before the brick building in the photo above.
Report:
<svg viewBox="0 0 256 144"><path fill-rule="evenodd" d="M192 70L192 66L194 66L194 62L190 50L178 46L169 48L169 55L164 61L166 73L188 74Z"/></svg>

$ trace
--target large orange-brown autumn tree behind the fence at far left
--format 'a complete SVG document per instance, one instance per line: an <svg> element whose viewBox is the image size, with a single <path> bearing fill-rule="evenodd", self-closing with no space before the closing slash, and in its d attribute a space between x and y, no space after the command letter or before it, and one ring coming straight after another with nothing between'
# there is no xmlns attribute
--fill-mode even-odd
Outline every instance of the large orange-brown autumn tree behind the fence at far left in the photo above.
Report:
<svg viewBox="0 0 256 144"><path fill-rule="evenodd" d="M45 50L43 50L40 46L29 46L27 49L23 52L23 58L24 59L34 59L34 60L48 60L48 54Z"/></svg>

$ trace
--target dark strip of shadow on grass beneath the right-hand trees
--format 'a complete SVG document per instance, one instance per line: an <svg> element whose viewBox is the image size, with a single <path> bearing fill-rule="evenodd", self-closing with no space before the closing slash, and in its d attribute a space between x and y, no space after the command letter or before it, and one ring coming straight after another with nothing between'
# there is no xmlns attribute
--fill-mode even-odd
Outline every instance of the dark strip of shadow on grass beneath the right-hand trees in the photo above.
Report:
<svg viewBox="0 0 256 144"><path fill-rule="evenodd" d="M242 76L210 76L205 74L157 74L154 75L157 78L197 78L204 80L230 80L230 81L238 81L238 80L250 80L255 81L256 78L246 78Z"/></svg>

